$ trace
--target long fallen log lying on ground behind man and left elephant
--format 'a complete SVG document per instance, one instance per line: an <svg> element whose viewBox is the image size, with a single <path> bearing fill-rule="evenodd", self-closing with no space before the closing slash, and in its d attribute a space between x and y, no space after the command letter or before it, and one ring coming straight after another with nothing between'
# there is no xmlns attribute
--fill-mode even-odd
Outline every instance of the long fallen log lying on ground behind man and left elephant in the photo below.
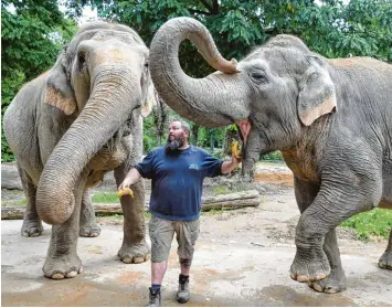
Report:
<svg viewBox="0 0 392 308"><path fill-rule="evenodd" d="M256 190L241 191L235 193L209 195L202 198L201 210L239 209L245 206L257 206L261 197ZM119 203L93 203L96 215L123 214ZM25 206L1 206L2 220L22 220ZM148 204L146 206L148 211Z"/></svg>

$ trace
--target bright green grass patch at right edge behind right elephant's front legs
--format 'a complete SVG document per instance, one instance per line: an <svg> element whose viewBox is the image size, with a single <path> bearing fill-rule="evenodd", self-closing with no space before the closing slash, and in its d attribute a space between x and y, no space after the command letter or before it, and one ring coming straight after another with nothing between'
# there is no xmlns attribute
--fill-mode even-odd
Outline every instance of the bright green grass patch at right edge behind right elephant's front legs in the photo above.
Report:
<svg viewBox="0 0 392 308"><path fill-rule="evenodd" d="M362 241L368 241L370 236L388 238L392 229L392 211L374 209L363 212L351 216L341 223L341 226L354 229Z"/></svg>

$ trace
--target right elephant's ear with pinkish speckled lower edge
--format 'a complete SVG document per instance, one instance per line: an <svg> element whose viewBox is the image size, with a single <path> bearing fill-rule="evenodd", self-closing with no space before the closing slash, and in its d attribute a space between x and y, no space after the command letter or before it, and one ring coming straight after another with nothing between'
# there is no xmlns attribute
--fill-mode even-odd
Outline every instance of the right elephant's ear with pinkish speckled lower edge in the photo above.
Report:
<svg viewBox="0 0 392 308"><path fill-rule="evenodd" d="M309 56L309 68L299 82L297 102L298 116L305 126L310 126L319 117L337 109L335 85L317 56Z"/></svg>

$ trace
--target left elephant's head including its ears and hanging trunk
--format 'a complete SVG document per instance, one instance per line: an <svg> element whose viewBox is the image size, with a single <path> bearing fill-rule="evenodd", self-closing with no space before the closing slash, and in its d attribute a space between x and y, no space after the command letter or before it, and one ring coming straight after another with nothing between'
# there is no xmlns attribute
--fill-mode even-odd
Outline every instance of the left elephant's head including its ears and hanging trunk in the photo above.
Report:
<svg viewBox="0 0 392 308"><path fill-rule="evenodd" d="M72 124L45 163L36 208L44 222L61 224L74 210L73 190L88 161L153 100L149 51L128 26L88 23L46 74L44 102Z"/></svg>

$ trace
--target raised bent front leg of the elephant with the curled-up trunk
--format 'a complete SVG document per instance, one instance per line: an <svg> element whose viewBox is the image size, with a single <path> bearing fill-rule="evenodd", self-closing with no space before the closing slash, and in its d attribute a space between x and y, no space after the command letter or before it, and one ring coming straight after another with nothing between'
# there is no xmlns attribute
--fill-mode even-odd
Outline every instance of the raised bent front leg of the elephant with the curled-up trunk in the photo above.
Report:
<svg viewBox="0 0 392 308"><path fill-rule="evenodd" d="M326 242L327 246L324 246L325 236L351 215L370 210L373 203L363 198L367 195L370 193L361 192L360 188L345 188L343 183L339 183L339 187L321 188L314 202L301 214L296 229L297 252L290 268L293 279L299 283L314 283L332 275L326 253L330 254L329 257L335 257L335 264L341 267L340 258L337 263L339 254L337 246L328 242ZM328 244L331 246L328 247ZM326 252L324 247L327 247ZM338 270L333 273L338 279L343 273L339 273L338 268L335 269ZM330 280L332 282L332 276ZM322 288L325 291L324 285L314 284L315 289Z"/></svg>

